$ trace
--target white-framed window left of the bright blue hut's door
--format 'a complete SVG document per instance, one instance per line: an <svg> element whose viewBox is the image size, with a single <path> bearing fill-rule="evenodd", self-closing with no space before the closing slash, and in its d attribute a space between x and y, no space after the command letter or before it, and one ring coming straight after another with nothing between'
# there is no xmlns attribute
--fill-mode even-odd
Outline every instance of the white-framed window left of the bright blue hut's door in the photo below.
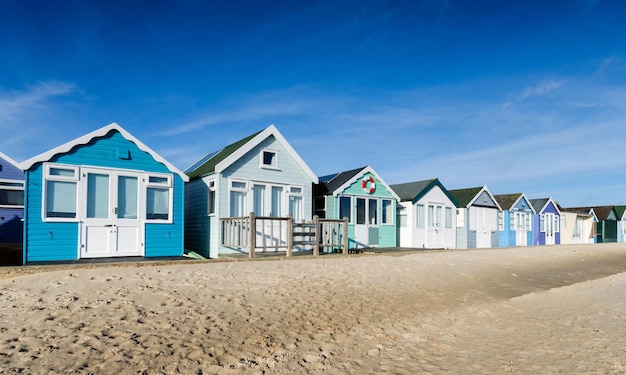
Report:
<svg viewBox="0 0 626 375"><path fill-rule="evenodd" d="M76 219L78 167L44 165L44 220Z"/></svg>

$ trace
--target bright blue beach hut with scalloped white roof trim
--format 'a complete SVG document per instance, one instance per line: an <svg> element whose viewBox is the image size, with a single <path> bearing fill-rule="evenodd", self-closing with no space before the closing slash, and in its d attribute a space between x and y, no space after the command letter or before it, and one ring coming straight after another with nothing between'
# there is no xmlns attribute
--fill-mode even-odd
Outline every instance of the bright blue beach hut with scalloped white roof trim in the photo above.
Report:
<svg viewBox="0 0 626 375"><path fill-rule="evenodd" d="M118 124L20 167L25 263L183 254L188 178Z"/></svg>

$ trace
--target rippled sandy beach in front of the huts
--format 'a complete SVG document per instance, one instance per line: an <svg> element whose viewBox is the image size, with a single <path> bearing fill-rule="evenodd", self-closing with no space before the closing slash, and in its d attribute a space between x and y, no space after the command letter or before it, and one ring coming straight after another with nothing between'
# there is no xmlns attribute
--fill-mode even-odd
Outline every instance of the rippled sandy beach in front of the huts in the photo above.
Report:
<svg viewBox="0 0 626 375"><path fill-rule="evenodd" d="M0 268L2 374L624 374L626 244Z"/></svg>

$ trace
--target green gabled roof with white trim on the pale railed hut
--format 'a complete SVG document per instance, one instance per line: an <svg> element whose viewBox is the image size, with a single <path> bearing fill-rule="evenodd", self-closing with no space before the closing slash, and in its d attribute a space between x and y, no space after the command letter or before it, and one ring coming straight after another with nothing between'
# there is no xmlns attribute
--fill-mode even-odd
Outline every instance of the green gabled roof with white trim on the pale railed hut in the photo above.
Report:
<svg viewBox="0 0 626 375"><path fill-rule="evenodd" d="M318 179L315 173L313 173L309 166L304 162L304 160L302 160L300 155L298 155L296 150L291 147L289 142L287 142L285 137L280 134L274 125L270 125L264 130L249 135L237 142L231 143L218 151L205 155L202 159L187 168L185 173L187 173L189 179L194 180L212 173L221 172L270 136L274 136L274 138L276 138L276 140L283 145L287 152L289 152L291 157L293 157L311 181L313 181L313 183L317 183Z"/></svg>

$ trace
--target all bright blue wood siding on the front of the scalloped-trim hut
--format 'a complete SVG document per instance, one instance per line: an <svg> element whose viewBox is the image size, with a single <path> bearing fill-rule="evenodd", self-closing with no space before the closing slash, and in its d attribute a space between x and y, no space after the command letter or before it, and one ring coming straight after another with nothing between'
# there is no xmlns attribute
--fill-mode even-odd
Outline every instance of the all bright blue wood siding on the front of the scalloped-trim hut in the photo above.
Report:
<svg viewBox="0 0 626 375"><path fill-rule="evenodd" d="M124 155L126 158L122 159L120 155ZM111 131L103 137L91 140L88 144L75 146L65 154L55 155L50 162L174 175L173 223L146 226L145 254L146 256L182 254L183 182L180 176L172 174L165 165L154 160L152 155L140 150L137 145L124 138L119 132ZM42 170L42 163L36 163L27 171L26 261L77 259L79 256L78 223L43 221ZM164 241L167 232L169 232L170 239ZM151 249L151 246L155 246L154 250Z"/></svg>

